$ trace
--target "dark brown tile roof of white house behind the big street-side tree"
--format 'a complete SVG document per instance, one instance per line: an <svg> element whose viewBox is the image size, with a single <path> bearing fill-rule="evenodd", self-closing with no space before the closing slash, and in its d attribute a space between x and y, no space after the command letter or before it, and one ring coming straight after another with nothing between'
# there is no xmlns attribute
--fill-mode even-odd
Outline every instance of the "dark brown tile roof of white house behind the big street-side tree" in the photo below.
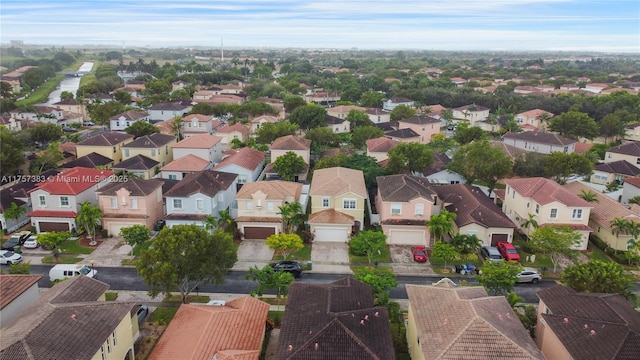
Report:
<svg viewBox="0 0 640 360"><path fill-rule="evenodd" d="M204 170L187 175L178 184L167 191L166 197L188 197L201 193L214 197L218 192L228 189L234 184L237 174Z"/></svg>

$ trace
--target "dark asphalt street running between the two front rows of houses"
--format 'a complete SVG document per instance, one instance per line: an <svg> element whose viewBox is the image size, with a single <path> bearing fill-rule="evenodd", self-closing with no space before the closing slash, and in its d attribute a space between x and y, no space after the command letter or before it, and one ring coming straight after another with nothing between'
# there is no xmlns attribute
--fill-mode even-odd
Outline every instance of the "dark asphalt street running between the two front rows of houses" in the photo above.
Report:
<svg viewBox="0 0 640 360"><path fill-rule="evenodd" d="M42 288L51 287L49 281L49 269L51 266L47 265L31 265L31 273L42 275L42 280L38 285ZM110 290L130 290L130 291L147 291L148 288L144 284L144 281L136 270L131 267L97 267L98 280L104 281L110 285ZM204 293L232 293L232 294L249 294L252 290L256 290L257 283L246 280L246 271L230 271L225 276L225 282L221 285L202 285L199 288L200 292ZM296 281L305 283L329 283L340 278L343 278L344 274L316 274L316 273L303 273ZM407 299L407 292L405 289L406 284L418 284L428 285L440 280L441 276L398 276L397 280L399 285L391 290L392 299ZM472 276L469 277L457 277L455 280L465 279L471 284L477 284L478 282ZM538 303L538 297L536 292L543 288L553 286L554 281L543 280L540 283L534 284L516 284L515 291L518 295L522 296L527 303ZM636 284L636 293L640 296L640 286ZM269 292L267 292L269 293Z"/></svg>

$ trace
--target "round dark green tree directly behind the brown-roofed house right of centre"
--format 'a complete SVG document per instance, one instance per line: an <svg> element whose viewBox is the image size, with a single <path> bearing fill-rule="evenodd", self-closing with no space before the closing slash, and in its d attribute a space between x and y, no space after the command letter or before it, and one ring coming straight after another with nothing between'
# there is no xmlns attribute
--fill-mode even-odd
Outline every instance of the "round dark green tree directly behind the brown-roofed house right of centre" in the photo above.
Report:
<svg viewBox="0 0 640 360"><path fill-rule="evenodd" d="M389 164L391 173L422 172L433 163L433 152L428 145L416 142L399 143L389 150Z"/></svg>

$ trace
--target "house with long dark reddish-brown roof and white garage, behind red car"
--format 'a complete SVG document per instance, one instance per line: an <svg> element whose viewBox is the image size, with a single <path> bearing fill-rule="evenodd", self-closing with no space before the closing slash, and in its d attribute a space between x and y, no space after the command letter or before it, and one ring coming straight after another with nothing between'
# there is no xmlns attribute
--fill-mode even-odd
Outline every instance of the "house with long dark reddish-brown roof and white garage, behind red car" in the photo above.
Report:
<svg viewBox="0 0 640 360"><path fill-rule="evenodd" d="M513 242L516 226L478 187L469 184L434 186L440 210L456 214L455 232L475 235L482 245Z"/></svg>

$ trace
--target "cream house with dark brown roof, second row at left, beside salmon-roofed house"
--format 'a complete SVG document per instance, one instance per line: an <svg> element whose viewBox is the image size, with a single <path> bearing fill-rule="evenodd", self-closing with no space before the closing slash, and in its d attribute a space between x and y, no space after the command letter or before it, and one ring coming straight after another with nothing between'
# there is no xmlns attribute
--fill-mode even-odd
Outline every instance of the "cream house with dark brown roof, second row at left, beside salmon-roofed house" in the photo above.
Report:
<svg viewBox="0 0 640 360"><path fill-rule="evenodd" d="M155 133L141 136L122 146L122 160L142 155L165 166L173 160L171 149L176 143L177 139L172 135Z"/></svg>

